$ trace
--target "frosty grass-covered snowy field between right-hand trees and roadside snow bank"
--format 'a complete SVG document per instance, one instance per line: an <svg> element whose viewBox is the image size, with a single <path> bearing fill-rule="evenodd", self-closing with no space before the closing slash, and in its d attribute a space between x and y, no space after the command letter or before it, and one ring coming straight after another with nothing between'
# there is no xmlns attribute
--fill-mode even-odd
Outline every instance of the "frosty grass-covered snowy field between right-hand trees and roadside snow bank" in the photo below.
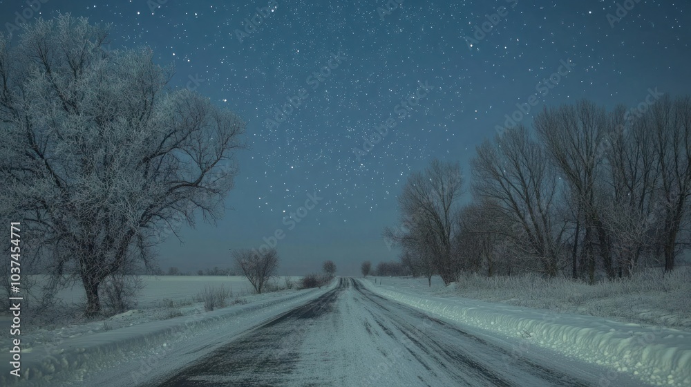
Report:
<svg viewBox="0 0 691 387"><path fill-rule="evenodd" d="M372 279L372 281L375 281ZM691 267L664 275L643 270L631 280L595 285L537 275L487 278L462 276L448 287L439 276L426 279L384 278L384 285L417 290L433 296L462 296L493 303L524 306L554 313L585 314L643 325L662 325L691 332Z"/></svg>

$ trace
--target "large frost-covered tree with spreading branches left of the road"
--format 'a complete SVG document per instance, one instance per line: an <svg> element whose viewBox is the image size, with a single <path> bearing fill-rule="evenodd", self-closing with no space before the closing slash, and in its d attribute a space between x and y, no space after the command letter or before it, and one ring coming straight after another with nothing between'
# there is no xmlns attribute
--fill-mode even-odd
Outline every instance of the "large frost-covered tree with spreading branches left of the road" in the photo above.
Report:
<svg viewBox="0 0 691 387"><path fill-rule="evenodd" d="M187 89L151 50L104 50L108 26L59 15L0 35L2 199L76 279L86 315L125 265L151 262L162 230L223 214L245 124ZM66 275L66 276L65 276Z"/></svg>

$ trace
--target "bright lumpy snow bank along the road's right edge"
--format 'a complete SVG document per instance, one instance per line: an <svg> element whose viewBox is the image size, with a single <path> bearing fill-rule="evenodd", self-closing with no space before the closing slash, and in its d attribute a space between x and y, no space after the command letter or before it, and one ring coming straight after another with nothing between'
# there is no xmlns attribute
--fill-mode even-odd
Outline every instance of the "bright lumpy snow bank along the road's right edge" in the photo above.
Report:
<svg viewBox="0 0 691 387"><path fill-rule="evenodd" d="M657 386L691 386L691 332L366 284L372 292L444 319L529 339L536 346L605 366L612 372L600 379L603 387L616 385L618 372Z"/></svg>

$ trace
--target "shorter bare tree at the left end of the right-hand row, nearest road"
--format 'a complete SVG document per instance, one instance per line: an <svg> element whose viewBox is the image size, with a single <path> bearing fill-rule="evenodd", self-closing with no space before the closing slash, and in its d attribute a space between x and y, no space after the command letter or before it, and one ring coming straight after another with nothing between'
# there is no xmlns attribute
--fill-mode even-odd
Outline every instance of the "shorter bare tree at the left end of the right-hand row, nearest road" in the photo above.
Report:
<svg viewBox="0 0 691 387"><path fill-rule="evenodd" d="M395 243L426 243L433 263L448 285L457 279L461 270L455 253L458 202L461 196L461 170L458 164L433 160L424 173L415 172L408 177L403 193L398 198L401 211L401 229L384 229L384 238ZM413 229L429 233L411 232ZM424 236L423 240L417 240Z"/></svg>

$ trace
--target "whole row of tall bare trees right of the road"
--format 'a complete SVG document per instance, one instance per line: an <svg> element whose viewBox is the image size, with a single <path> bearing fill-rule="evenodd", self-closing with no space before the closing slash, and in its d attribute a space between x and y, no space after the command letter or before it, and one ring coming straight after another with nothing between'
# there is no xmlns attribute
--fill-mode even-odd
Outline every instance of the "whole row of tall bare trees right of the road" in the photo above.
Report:
<svg viewBox="0 0 691 387"><path fill-rule="evenodd" d="M690 243L691 97L611 111L588 101L545 109L533 131L477 147L472 201L457 164L433 160L399 196L384 236L414 274L566 274L594 283L636 267L674 270Z"/></svg>

